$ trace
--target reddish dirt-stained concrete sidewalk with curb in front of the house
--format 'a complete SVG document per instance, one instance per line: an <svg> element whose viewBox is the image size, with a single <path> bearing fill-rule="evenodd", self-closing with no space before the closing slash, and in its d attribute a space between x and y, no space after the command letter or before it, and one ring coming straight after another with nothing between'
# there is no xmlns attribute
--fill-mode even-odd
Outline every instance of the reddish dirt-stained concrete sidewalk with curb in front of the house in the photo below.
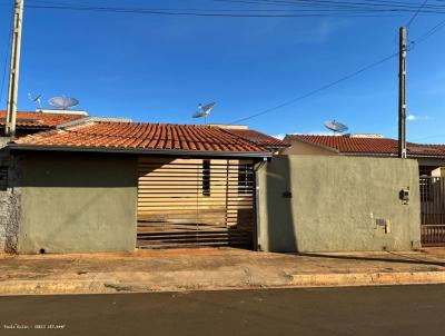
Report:
<svg viewBox="0 0 445 336"><path fill-rule="evenodd" d="M229 248L0 257L0 295L445 283L445 249L268 254Z"/></svg>

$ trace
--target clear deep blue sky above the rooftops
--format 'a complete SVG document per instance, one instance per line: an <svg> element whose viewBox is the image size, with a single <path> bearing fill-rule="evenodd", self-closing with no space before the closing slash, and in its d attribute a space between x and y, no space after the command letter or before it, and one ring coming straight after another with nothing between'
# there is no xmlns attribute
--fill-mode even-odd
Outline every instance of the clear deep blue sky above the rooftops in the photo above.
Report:
<svg viewBox="0 0 445 336"><path fill-rule="evenodd" d="M58 0L63 1L69 2ZM11 3L0 0L0 70L9 47ZM100 0L77 3L119 6ZM227 8L206 0L132 0L125 6ZM28 92L43 92L46 105L51 96L72 96L80 100L79 108L95 116L190 123L201 122L191 119L199 102L216 101L209 121L227 123L395 52L398 27L407 19L192 18L26 9L19 109L33 110ZM419 16L409 37L415 39L444 19ZM445 142L444 38L445 29L408 53L412 141ZM2 109L7 80L8 76ZM397 59L246 122L270 135L312 134L325 131L323 121L328 119L348 125L352 132L396 137Z"/></svg>

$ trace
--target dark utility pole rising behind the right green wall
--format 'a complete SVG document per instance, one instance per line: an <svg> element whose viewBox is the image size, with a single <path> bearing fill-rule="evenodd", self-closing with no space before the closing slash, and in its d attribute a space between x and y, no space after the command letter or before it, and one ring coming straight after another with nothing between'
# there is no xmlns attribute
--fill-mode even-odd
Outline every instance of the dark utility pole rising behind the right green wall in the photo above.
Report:
<svg viewBox="0 0 445 336"><path fill-rule="evenodd" d="M406 28L398 33L398 157L406 159Z"/></svg>

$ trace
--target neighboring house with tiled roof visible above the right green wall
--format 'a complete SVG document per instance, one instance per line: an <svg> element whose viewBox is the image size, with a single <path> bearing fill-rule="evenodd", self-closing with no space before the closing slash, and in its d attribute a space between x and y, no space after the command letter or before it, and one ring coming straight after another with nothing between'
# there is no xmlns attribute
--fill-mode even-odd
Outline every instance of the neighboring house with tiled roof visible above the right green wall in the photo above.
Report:
<svg viewBox="0 0 445 336"><path fill-rule="evenodd" d="M286 135L287 155L397 157L397 140L373 135L309 136ZM408 158L416 159L421 175L445 166L445 145L407 144Z"/></svg>

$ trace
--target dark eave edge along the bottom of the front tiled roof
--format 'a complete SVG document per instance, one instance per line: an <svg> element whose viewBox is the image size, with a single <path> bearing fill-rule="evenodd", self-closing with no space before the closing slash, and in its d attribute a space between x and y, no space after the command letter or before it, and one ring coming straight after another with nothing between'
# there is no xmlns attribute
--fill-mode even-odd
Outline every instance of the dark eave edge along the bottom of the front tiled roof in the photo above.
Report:
<svg viewBox="0 0 445 336"><path fill-rule="evenodd" d="M66 152L103 152L103 154L132 154L132 155L162 155L177 157L243 157L269 158L268 151L211 151L211 150L178 150L178 149L147 149L147 148L119 148L119 147L76 147L76 146L38 146L10 144L8 147L23 151L66 151Z"/></svg>

